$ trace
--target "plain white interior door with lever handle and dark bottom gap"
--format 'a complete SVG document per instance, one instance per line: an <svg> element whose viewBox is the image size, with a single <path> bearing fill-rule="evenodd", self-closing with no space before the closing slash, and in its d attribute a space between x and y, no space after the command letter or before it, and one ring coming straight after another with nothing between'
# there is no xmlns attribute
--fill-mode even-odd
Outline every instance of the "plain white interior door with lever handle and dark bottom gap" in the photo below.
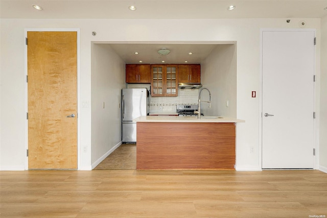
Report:
<svg viewBox="0 0 327 218"><path fill-rule="evenodd" d="M262 34L262 168L313 168L315 32Z"/></svg>

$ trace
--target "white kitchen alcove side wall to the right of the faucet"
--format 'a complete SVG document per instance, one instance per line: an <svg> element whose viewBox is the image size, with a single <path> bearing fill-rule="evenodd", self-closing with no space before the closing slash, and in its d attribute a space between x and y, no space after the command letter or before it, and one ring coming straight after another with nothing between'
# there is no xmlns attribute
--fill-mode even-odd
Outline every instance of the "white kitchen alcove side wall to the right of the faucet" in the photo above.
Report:
<svg viewBox="0 0 327 218"><path fill-rule="evenodd" d="M237 45L219 45L201 63L201 83L211 92L212 107L201 103L201 113L206 116L236 117L236 61ZM208 101L206 90L201 92L201 100ZM226 107L228 101L228 107Z"/></svg>

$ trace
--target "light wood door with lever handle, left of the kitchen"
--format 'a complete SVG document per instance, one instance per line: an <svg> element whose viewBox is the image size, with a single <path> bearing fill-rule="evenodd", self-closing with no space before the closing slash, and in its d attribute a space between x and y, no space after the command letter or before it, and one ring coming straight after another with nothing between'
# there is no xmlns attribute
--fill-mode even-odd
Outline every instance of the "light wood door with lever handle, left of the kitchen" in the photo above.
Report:
<svg viewBox="0 0 327 218"><path fill-rule="evenodd" d="M77 32L27 36L28 167L76 169Z"/></svg>

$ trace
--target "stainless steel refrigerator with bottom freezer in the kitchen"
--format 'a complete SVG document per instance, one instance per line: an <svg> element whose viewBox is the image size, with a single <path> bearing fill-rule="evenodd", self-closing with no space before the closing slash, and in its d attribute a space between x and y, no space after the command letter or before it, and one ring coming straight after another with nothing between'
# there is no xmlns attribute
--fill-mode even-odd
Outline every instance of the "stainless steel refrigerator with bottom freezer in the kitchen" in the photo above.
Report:
<svg viewBox="0 0 327 218"><path fill-rule="evenodd" d="M149 91L146 88L122 89L122 142L136 142L136 122L133 119L149 112Z"/></svg>

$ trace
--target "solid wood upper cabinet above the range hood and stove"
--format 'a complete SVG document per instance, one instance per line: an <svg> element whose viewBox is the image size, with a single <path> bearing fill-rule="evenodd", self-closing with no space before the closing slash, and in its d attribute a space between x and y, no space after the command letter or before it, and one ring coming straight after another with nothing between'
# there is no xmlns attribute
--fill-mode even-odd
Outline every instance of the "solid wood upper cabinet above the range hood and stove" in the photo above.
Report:
<svg viewBox="0 0 327 218"><path fill-rule="evenodd" d="M200 64L179 64L178 65L179 83L201 83Z"/></svg>

